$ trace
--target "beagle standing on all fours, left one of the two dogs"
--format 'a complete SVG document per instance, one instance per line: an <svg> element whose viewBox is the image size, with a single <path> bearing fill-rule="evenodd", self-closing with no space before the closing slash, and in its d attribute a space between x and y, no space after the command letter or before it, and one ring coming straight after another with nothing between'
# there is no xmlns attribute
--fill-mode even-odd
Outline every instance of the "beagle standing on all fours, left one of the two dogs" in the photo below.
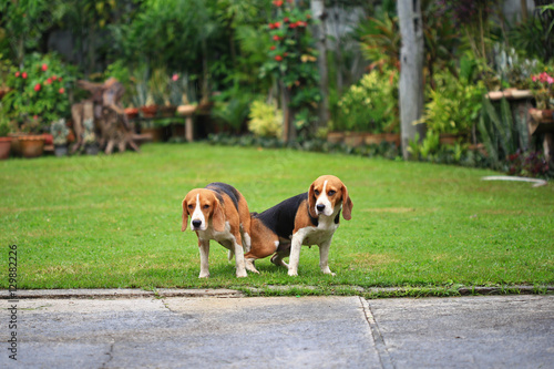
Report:
<svg viewBox="0 0 554 369"><path fill-rule="evenodd" d="M220 182L192 189L183 199L182 232L186 229L188 217L191 217L191 228L198 237L201 252L198 278L209 277L211 239L215 239L229 250L229 259L235 254L237 277L246 277L244 248L246 250L250 248L250 214L244 196L235 187Z"/></svg>

